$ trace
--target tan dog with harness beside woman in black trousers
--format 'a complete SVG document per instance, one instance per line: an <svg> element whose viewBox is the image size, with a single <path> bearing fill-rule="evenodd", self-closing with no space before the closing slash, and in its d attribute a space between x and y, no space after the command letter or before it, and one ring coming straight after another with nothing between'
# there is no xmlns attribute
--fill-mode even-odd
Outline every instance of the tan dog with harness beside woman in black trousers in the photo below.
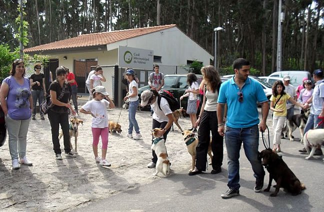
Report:
<svg viewBox="0 0 324 212"><path fill-rule="evenodd" d="M190 130L184 130L184 131L182 131L181 134L182 134L184 142L187 146L188 153L191 155L191 158L192 158L191 169L189 170L189 172L191 172L195 166L196 147L198 145L198 139L196 139L194 137L194 133L192 133L192 131L190 131ZM209 155L210 161L211 161L211 159L212 159L211 139L210 139L209 146L208 146L208 155Z"/></svg>

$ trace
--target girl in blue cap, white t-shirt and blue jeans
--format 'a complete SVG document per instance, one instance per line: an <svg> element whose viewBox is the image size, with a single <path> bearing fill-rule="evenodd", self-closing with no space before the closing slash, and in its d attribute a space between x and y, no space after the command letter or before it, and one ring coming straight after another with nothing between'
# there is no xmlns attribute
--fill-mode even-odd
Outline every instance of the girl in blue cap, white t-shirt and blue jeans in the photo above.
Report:
<svg viewBox="0 0 324 212"><path fill-rule="evenodd" d="M135 119L136 110L138 107L138 85L135 80L135 72L133 69L127 69L126 77L129 82L128 85L128 94L123 98L124 101L129 101L129 108L128 108L128 138L134 138L135 140L140 139L142 136L139 132L138 123ZM132 136L133 128L135 130L135 136Z"/></svg>

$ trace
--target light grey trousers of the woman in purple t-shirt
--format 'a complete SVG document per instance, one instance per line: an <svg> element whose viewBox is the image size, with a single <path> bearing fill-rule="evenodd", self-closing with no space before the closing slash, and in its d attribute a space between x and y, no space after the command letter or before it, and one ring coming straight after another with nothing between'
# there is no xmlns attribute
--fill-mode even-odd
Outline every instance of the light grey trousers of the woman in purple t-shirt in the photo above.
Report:
<svg viewBox="0 0 324 212"><path fill-rule="evenodd" d="M9 135L8 144L11 160L18 159L18 154L20 159L26 156L29 122L30 118L15 120L11 119L8 114L5 116L5 124Z"/></svg>

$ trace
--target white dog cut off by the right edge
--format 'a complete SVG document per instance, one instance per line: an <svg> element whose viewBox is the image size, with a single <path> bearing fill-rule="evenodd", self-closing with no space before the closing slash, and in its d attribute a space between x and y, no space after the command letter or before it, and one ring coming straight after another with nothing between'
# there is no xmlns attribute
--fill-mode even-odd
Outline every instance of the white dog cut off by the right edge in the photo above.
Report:
<svg viewBox="0 0 324 212"><path fill-rule="evenodd" d="M303 136L302 140L305 146L308 157L305 159L311 159L314 156L316 146L322 145L324 143L324 129L313 129L308 130ZM311 147L311 151L309 152L308 147Z"/></svg>

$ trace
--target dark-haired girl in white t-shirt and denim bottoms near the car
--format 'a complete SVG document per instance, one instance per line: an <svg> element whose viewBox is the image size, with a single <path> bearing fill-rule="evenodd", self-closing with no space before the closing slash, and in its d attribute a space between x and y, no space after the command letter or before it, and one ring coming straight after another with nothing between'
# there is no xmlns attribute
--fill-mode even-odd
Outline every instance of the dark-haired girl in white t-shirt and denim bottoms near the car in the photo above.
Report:
<svg viewBox="0 0 324 212"><path fill-rule="evenodd" d="M197 132L195 128L195 122L197 121L196 113L199 106L199 84L197 82L197 77L194 73L188 73L187 75L187 84L189 85L188 89L185 90L185 94L180 97L180 101L183 97L188 97L188 104L186 113L190 116L191 128L192 132Z"/></svg>

